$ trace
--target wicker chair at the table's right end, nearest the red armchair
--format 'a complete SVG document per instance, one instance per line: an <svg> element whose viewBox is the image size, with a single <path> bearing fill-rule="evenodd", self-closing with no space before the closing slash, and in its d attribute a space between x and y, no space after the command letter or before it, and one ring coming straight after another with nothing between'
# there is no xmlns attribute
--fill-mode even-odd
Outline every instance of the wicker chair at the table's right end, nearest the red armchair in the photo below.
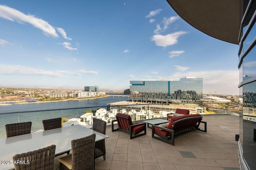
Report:
<svg viewBox="0 0 256 170"><path fill-rule="evenodd" d="M96 119L96 118L93 118L92 120L93 120L92 130L106 135L106 121ZM100 156L103 156L104 160L106 160L105 139L95 142L94 159Z"/></svg>

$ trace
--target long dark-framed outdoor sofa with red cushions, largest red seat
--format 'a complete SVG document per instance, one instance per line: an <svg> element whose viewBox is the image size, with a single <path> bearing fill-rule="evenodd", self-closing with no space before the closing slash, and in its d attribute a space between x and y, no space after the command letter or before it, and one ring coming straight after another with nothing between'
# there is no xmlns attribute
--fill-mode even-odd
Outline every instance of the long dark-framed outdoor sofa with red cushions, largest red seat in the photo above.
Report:
<svg viewBox="0 0 256 170"><path fill-rule="evenodd" d="M204 123L204 130L199 128ZM207 132L206 122L202 121L202 115L191 114L172 117L167 126L152 125L152 138L174 145L174 136L188 131Z"/></svg>

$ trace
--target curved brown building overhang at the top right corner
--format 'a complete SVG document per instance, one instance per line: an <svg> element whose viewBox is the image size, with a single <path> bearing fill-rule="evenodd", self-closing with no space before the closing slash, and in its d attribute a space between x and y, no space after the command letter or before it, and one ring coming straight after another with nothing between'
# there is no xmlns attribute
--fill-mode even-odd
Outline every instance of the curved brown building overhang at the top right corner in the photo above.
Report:
<svg viewBox="0 0 256 170"><path fill-rule="evenodd" d="M196 29L222 41L238 44L241 0L166 0Z"/></svg>

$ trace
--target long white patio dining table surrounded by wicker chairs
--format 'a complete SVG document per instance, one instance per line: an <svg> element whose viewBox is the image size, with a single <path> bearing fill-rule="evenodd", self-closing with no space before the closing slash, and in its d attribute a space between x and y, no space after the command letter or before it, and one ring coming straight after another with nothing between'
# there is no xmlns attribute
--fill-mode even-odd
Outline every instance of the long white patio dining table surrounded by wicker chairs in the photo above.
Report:
<svg viewBox="0 0 256 170"><path fill-rule="evenodd" d="M107 135L93 131L82 125L61 127L47 131L29 133L14 137L0 139L0 170L13 169L12 157L40 148L56 145L55 154L64 153L71 150L71 141L96 134L95 141L108 138Z"/></svg>

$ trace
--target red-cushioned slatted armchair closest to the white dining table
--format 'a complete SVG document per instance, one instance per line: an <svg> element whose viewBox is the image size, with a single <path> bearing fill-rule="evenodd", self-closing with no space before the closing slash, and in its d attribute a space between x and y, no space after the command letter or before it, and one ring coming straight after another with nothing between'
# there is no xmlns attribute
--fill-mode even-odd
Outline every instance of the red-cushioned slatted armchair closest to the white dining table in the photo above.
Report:
<svg viewBox="0 0 256 170"><path fill-rule="evenodd" d="M114 122L118 123L117 129L114 129ZM124 131L130 134L130 139L146 135L146 123L133 123L131 116L127 114L117 113L116 120L112 121L112 132L113 131ZM141 133L143 132L144 133Z"/></svg>

